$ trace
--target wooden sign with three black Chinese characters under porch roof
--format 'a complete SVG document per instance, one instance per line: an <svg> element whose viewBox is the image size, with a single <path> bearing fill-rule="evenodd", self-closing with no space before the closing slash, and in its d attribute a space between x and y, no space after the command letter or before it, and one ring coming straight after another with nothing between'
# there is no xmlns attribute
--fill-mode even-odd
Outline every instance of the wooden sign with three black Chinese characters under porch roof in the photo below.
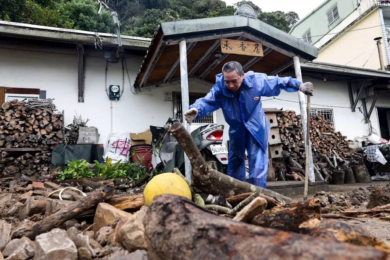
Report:
<svg viewBox="0 0 390 260"><path fill-rule="evenodd" d="M263 57L263 46L261 43L252 41L237 41L232 39L221 39L222 53L234 53L241 55Z"/></svg>

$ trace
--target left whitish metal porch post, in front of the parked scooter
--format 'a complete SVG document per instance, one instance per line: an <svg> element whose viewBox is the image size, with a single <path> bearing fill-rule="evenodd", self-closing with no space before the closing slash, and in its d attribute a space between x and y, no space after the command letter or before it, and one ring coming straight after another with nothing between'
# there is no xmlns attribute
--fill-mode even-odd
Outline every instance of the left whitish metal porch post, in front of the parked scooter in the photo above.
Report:
<svg viewBox="0 0 390 260"><path fill-rule="evenodd" d="M183 116L183 125L188 132L191 132L190 125L185 120L184 111L190 107L190 98L188 97L188 70L187 70L187 45L186 41L179 43L180 50L180 83L181 83L181 109ZM184 169L186 171L186 178L190 181L192 179L191 164L188 156L184 153Z"/></svg>

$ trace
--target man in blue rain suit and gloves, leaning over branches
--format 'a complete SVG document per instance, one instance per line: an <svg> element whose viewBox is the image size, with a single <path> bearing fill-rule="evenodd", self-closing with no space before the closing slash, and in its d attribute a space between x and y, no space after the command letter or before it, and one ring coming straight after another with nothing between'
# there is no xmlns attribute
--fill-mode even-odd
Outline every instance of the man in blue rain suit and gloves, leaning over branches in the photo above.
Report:
<svg viewBox="0 0 390 260"><path fill-rule="evenodd" d="M238 180L245 178L245 149L249 159L249 182L266 188L268 171L269 123L262 110L261 96L278 96L302 91L313 94L313 84L291 77L267 76L253 71L243 72L241 64L227 62L210 92L198 99L184 114L188 123L222 108L229 124L229 164L227 174Z"/></svg>

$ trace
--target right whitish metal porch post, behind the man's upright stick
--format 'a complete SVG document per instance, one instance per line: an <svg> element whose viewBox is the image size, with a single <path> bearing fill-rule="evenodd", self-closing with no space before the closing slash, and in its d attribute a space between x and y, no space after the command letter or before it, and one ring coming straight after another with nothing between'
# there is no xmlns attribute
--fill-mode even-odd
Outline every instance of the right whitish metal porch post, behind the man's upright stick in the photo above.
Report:
<svg viewBox="0 0 390 260"><path fill-rule="evenodd" d="M298 56L294 56L294 69L295 77L298 81L303 82L302 80L302 71L301 71L301 61ZM305 141L305 146L307 147L307 142L309 142L309 182L316 182L314 177L314 164L313 164L313 155L312 155L312 146L310 140L306 140L306 130L307 130L307 109L305 102L305 94L301 91L298 91L299 106L301 108L301 119L302 119L302 128L303 128L303 139Z"/></svg>

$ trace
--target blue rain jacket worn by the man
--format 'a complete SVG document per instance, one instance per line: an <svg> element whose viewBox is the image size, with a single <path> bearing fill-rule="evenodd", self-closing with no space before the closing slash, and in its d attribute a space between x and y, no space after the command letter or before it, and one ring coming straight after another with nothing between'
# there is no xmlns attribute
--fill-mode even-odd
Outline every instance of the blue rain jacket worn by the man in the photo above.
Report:
<svg viewBox="0 0 390 260"><path fill-rule="evenodd" d="M261 105L261 96L278 96L284 89L287 92L299 90L301 82L291 77L267 76L264 73L248 71L243 84L234 93L223 79L216 75L216 83L204 98L199 98L190 109L198 109L198 120L222 108L225 121L229 124L229 146L237 156L245 155L245 129L259 142L263 151L268 150L269 123Z"/></svg>

